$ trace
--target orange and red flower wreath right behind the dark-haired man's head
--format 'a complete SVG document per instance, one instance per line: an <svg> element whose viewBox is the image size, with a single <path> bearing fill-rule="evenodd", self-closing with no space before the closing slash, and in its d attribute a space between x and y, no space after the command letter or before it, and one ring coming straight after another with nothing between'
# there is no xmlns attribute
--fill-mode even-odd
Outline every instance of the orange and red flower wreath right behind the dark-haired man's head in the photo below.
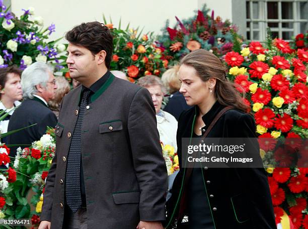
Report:
<svg viewBox="0 0 308 229"><path fill-rule="evenodd" d="M113 24L107 24L113 35L113 56L111 70L120 70L126 73L128 79L134 82L144 75L161 76L168 66L168 60L162 55L162 49L154 44L153 33L142 34L134 29L121 29Z"/></svg>

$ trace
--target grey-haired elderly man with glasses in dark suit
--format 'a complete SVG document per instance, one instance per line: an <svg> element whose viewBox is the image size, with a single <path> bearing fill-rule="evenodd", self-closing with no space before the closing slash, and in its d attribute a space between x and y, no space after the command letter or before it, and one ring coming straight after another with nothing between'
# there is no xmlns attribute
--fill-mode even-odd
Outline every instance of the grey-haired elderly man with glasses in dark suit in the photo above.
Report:
<svg viewBox="0 0 308 229"><path fill-rule="evenodd" d="M24 101L13 113L8 131L36 124L12 134L8 144L31 144L45 134L47 127L55 127L57 118L48 108L48 101L57 89L52 69L45 63L35 62L22 73L21 86ZM11 148L10 156L16 156L17 147Z"/></svg>

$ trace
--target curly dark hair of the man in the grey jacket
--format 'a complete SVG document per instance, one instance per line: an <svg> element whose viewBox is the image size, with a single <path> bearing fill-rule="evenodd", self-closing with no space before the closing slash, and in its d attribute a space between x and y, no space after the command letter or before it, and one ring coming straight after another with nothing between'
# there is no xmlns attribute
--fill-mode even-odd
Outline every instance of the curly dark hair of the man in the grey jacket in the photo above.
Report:
<svg viewBox="0 0 308 229"><path fill-rule="evenodd" d="M82 23L68 31L65 39L76 46L89 49L93 55L106 51L105 63L110 68L113 37L109 29L100 22Z"/></svg>

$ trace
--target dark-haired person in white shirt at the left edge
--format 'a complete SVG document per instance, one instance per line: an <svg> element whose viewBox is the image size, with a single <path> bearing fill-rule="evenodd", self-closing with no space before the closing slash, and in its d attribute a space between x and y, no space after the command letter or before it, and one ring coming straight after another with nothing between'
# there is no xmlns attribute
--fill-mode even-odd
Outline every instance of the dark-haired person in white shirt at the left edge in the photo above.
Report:
<svg viewBox="0 0 308 229"><path fill-rule="evenodd" d="M0 112L5 110L8 113L8 116L0 122L0 133L8 132L10 118L15 108L21 104L23 91L20 75L21 70L16 66L0 68ZM6 143L7 137L1 139L1 141Z"/></svg>

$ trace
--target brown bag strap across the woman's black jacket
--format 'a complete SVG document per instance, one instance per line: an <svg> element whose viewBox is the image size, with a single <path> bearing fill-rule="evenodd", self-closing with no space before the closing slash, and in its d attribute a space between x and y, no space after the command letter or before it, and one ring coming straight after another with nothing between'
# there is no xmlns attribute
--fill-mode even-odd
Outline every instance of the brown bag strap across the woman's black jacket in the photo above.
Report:
<svg viewBox="0 0 308 229"><path fill-rule="evenodd" d="M203 134L203 136L201 137L202 140L204 140L206 138L206 136L209 134L209 132L212 130L212 128L215 126L216 122L220 119L220 117L228 110L230 109L234 109L234 107L232 106L226 106L224 107L222 110L219 111L219 113L216 115L216 117L214 118L214 120L211 122L211 124L209 125L209 127L207 128L206 132ZM189 167L189 168L186 168L186 172L184 174L184 187L187 187L187 184L188 184L188 181L189 181L189 178L192 174L192 171L193 171L193 167ZM179 214L178 214L178 222L179 220L182 220L183 217L184 217L184 209L185 209L185 203L186 201L185 198L186 198L186 192L184 190L184 193L182 195L182 198L181 198L181 202L180 202L180 209L179 209Z"/></svg>

